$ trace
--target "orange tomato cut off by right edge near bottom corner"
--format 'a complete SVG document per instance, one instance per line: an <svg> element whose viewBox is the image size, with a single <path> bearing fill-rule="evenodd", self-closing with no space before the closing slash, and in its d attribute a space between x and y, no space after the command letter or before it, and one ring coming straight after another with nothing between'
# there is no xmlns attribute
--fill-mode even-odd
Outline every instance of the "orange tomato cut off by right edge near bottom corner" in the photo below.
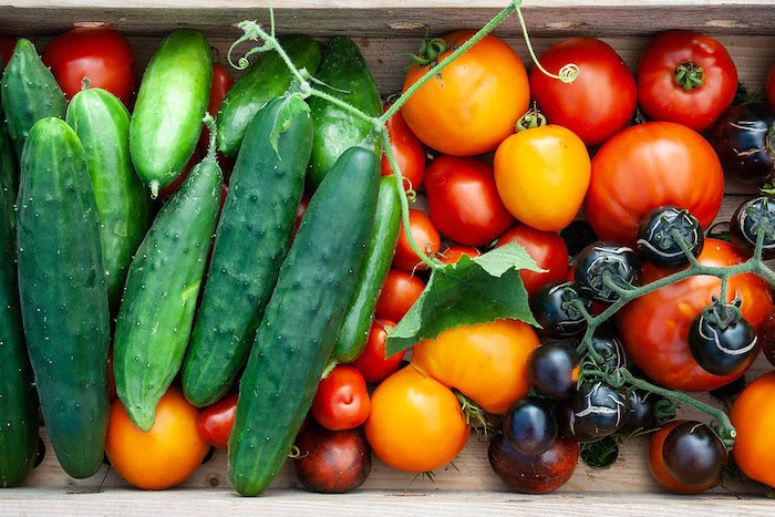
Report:
<svg viewBox="0 0 775 517"><path fill-rule="evenodd" d="M743 474L775 487L775 372L768 372L743 389L730 412L737 431L732 455Z"/></svg>

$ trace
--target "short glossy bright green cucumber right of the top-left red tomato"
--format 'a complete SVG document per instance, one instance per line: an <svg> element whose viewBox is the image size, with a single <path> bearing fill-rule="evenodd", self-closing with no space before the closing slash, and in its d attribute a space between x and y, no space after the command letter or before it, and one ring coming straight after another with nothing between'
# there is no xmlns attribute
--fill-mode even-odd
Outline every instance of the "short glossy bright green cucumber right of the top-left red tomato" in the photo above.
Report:
<svg viewBox="0 0 775 517"><path fill-rule="evenodd" d="M211 84L213 53L199 31L174 31L151 58L130 124L132 162L151 197L173 183L194 154Z"/></svg>

